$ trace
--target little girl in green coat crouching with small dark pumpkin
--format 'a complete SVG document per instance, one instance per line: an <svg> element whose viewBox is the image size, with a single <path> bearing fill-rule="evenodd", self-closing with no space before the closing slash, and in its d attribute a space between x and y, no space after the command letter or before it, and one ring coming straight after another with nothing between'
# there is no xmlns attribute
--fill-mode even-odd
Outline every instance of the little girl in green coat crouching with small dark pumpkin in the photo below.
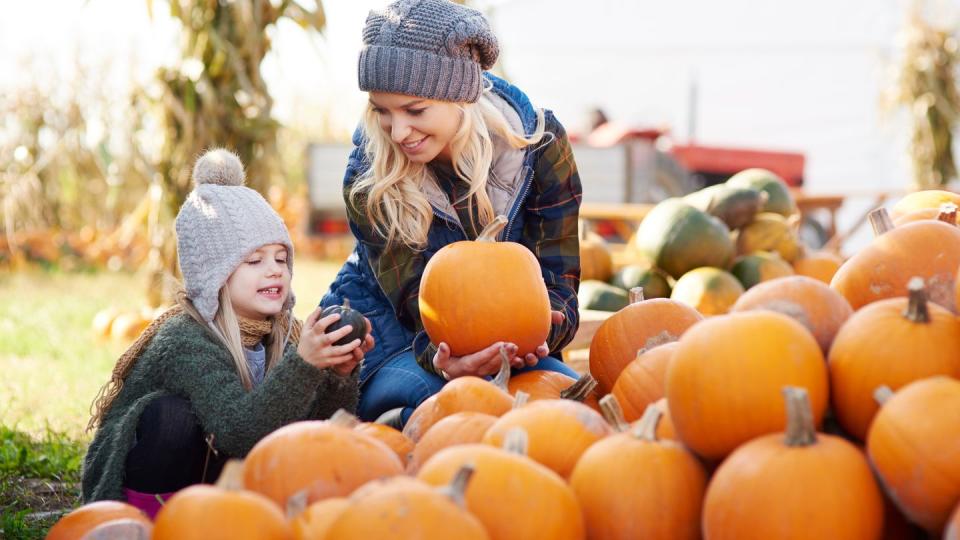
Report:
<svg viewBox="0 0 960 540"><path fill-rule="evenodd" d="M225 150L204 154L177 215L185 291L120 357L94 402L83 499L159 509L157 495L213 480L263 436L355 410L369 335L335 346L339 315L301 325L290 290L293 245L280 216L244 187Z"/></svg>

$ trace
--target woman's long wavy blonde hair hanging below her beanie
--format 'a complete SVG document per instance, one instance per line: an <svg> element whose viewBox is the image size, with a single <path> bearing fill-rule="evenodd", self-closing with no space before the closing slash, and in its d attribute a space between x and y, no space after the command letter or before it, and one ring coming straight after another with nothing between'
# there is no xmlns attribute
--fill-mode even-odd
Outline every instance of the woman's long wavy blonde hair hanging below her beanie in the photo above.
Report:
<svg viewBox="0 0 960 540"><path fill-rule="evenodd" d="M537 109L537 127L527 136L517 133L507 118L491 101L489 89L476 103L459 103L461 122L450 142L451 160L457 176L470 186L459 203L466 200L471 219L482 228L495 217L487 195L487 179L493 162L491 135L502 138L511 148L525 148L540 141L544 134L543 110ZM407 159L399 145L383 128L373 105L363 115L366 135L364 153L370 168L350 189L350 204L365 212L374 229L387 239L387 244L400 242L415 249L427 243L427 231L433 220L433 209L423 186L431 176L423 163ZM358 203L365 195L363 208ZM474 215L476 204L476 216Z"/></svg>

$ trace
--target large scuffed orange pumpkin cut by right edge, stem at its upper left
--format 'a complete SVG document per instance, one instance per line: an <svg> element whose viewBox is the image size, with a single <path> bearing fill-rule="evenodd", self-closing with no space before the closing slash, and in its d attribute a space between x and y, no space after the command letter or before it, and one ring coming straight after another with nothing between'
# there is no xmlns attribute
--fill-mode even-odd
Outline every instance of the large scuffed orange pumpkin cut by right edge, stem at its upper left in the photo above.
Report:
<svg viewBox="0 0 960 540"><path fill-rule="evenodd" d="M942 221L892 228L883 208L870 215L879 236L843 263L830 286L857 310L877 300L907 296L907 281L919 276L927 283L929 299L954 311L960 228Z"/></svg>

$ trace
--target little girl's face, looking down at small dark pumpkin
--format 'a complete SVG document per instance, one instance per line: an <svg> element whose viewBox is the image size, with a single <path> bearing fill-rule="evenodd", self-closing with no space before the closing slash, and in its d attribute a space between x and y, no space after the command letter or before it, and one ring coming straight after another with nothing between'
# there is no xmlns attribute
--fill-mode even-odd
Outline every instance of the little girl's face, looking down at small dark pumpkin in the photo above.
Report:
<svg viewBox="0 0 960 540"><path fill-rule="evenodd" d="M287 248L263 246L240 263L227 279L227 293L237 315L265 320L283 310L290 294Z"/></svg>

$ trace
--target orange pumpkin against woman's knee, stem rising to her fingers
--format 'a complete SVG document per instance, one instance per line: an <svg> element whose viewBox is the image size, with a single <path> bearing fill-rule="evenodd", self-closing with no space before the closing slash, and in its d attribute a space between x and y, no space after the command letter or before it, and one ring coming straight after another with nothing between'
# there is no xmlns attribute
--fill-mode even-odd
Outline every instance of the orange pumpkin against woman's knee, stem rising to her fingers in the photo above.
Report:
<svg viewBox="0 0 960 540"><path fill-rule="evenodd" d="M500 373L493 382L479 377L458 377L421 403L407 420L403 434L414 443L440 420L458 412L482 412L500 416L513 407L507 392L510 362L503 356Z"/></svg>

